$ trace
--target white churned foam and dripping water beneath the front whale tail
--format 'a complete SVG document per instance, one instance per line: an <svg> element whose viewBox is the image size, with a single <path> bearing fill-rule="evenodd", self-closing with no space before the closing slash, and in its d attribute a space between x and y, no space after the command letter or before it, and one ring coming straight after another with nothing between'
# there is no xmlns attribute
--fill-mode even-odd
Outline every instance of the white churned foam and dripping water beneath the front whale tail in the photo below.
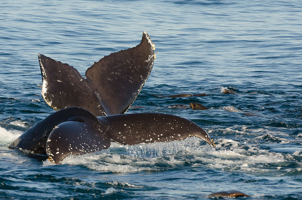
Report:
<svg viewBox="0 0 302 200"><path fill-rule="evenodd" d="M263 133L267 130L265 128L257 130L261 131L262 135L256 138L262 139L264 137ZM254 130L247 126L233 126L220 131L225 131L226 134L235 133L240 136L252 133ZM250 140L255 140L255 138ZM240 171L242 173L262 174L272 172L272 169L265 167L268 163L280 163L281 166L277 169L284 170L282 163L288 160L288 156L291 156L261 149L254 142L249 143L249 140L240 141L239 139L237 141L236 138L220 138L215 140L215 143L217 144L217 150L213 150L210 145L194 137L184 141L135 146L111 143L108 150L102 150L95 154L69 156L62 163L84 165L88 169L114 173L158 171L167 168L178 168L191 163L194 167L207 166L208 168L228 172ZM293 153L293 155L300 154L299 151Z"/></svg>

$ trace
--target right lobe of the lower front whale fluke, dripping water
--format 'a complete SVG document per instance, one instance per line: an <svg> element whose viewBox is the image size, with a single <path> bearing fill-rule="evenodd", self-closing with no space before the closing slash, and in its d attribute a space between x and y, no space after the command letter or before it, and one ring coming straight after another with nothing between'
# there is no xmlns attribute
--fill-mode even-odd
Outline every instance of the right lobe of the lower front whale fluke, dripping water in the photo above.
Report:
<svg viewBox="0 0 302 200"><path fill-rule="evenodd" d="M133 113L97 117L107 124L112 141L119 144L170 142L187 137L199 137L215 147L206 131L194 122L176 115Z"/></svg>

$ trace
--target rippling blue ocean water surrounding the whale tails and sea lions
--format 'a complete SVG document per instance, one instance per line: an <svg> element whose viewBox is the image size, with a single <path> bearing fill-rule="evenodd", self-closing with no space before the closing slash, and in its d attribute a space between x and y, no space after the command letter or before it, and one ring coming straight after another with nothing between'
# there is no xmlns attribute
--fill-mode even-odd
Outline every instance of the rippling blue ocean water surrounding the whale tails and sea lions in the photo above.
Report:
<svg viewBox="0 0 302 200"><path fill-rule="evenodd" d="M299 0L2 0L0 198L209 199L239 190L245 199L302 199L301 13ZM133 103L146 108L127 113L188 118L217 148L197 138L111 143L62 165L8 148L54 112L41 96L38 53L84 75L139 44L143 31L158 53ZM182 93L207 96L160 96ZM190 102L211 110L167 107Z"/></svg>

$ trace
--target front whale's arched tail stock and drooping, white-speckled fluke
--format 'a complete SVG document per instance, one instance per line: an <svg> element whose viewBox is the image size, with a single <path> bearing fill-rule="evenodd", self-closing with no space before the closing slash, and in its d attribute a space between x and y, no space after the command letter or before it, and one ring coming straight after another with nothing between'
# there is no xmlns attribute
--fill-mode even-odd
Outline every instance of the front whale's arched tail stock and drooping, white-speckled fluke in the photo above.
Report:
<svg viewBox="0 0 302 200"><path fill-rule="evenodd" d="M68 155L94 153L110 142L136 145L199 137L212 147L209 135L194 122L175 115L134 113L95 117L80 107L70 107L39 121L11 144L35 154L46 154L56 164Z"/></svg>

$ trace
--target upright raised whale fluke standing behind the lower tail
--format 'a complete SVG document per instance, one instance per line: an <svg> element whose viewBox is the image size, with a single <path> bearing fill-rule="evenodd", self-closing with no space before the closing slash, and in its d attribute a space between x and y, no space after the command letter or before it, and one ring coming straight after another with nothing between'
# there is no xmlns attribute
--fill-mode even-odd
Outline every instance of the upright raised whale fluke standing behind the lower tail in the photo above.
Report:
<svg viewBox="0 0 302 200"><path fill-rule="evenodd" d="M39 54L42 96L58 111L79 106L96 116L122 114L145 84L154 61L154 44L144 31L139 45L104 56L86 70Z"/></svg>

